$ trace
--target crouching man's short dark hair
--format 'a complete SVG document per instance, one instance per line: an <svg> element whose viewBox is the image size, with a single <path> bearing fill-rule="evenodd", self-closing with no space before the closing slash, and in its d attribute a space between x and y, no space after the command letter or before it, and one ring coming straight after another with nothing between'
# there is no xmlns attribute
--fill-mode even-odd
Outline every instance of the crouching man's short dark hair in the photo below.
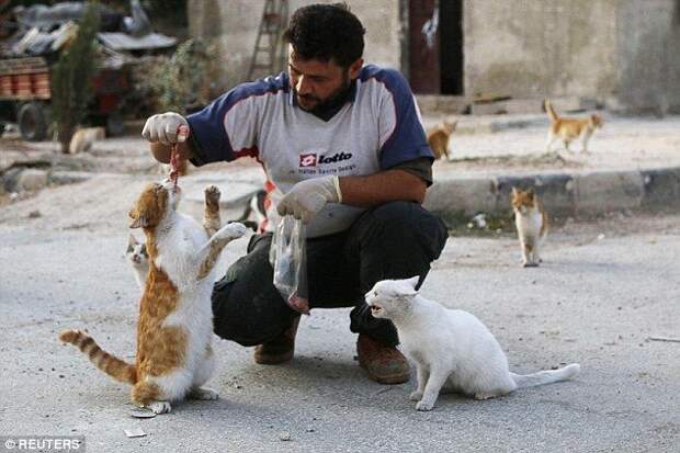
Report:
<svg viewBox="0 0 680 453"><path fill-rule="evenodd" d="M364 52L364 30L345 3L310 4L296 10L283 38L296 57L348 68Z"/></svg>

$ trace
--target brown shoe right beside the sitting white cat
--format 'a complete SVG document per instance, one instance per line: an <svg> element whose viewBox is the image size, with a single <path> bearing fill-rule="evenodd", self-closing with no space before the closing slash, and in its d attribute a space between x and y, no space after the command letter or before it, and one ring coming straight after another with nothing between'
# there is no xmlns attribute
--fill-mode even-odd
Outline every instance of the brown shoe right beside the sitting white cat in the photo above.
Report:
<svg viewBox="0 0 680 453"><path fill-rule="evenodd" d="M406 358L394 347L378 343L367 335L360 333L356 340L359 365L369 377L381 384L401 384L409 378Z"/></svg>

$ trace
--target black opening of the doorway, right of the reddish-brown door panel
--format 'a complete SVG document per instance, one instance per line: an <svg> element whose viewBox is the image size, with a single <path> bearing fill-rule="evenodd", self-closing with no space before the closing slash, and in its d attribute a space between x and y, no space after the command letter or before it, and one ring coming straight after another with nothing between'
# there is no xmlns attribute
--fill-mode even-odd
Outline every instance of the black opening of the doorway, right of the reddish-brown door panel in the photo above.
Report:
<svg viewBox="0 0 680 453"><path fill-rule="evenodd" d="M463 1L439 2L441 93L463 94Z"/></svg>

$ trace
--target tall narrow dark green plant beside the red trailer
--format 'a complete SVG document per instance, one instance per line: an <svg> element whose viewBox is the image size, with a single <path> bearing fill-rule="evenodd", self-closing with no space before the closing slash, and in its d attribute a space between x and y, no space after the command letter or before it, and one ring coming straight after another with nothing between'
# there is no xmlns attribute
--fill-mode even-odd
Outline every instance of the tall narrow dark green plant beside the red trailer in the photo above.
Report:
<svg viewBox="0 0 680 453"><path fill-rule="evenodd" d="M61 50L52 68L52 111L61 152L87 114L92 100L92 77L97 73L97 32L99 30L97 2L89 2L78 26L78 34Z"/></svg>

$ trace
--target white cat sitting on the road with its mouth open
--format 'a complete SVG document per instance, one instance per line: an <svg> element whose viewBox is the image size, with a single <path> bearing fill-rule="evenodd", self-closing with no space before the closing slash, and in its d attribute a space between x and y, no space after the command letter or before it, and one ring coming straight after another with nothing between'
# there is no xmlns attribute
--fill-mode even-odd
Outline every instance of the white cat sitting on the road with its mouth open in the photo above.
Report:
<svg viewBox="0 0 680 453"><path fill-rule="evenodd" d="M416 409L432 410L442 387L487 399L580 372L574 363L528 375L511 373L500 344L479 319L421 297L417 284L418 276L384 280L365 296L374 317L394 322L401 349L416 363L418 389L410 395L418 401Z"/></svg>

